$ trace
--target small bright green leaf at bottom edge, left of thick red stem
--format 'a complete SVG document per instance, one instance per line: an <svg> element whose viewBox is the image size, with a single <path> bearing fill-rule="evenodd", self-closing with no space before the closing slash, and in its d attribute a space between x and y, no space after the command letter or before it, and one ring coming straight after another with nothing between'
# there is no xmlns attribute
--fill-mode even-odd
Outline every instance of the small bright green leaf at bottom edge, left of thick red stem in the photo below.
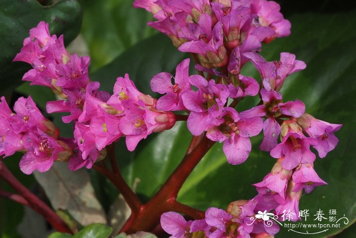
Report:
<svg viewBox="0 0 356 238"><path fill-rule="evenodd" d="M85 226L78 233L71 235L67 233L54 232L48 236L48 238L102 238L108 237L111 234L112 229L103 224L97 223Z"/></svg>

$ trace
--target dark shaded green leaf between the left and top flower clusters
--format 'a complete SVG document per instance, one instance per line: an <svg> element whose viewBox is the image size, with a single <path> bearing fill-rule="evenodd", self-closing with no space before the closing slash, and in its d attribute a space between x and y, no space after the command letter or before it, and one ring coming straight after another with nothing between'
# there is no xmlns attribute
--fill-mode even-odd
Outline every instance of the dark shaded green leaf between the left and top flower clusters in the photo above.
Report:
<svg viewBox="0 0 356 238"><path fill-rule="evenodd" d="M91 79L101 83L101 90L112 93L116 78L128 73L139 90L151 94L151 78L162 71L173 72L177 64L188 57L178 51L168 37L157 34L123 52L113 62L94 72Z"/></svg>

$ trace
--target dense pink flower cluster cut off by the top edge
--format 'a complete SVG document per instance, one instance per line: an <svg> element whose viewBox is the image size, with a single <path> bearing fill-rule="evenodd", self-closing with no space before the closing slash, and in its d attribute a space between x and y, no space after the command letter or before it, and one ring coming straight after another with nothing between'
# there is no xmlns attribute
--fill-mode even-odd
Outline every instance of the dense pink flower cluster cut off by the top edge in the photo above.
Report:
<svg viewBox="0 0 356 238"><path fill-rule="evenodd" d="M245 52L290 34L290 22L272 1L135 0L134 7L153 13L157 21L148 24L180 51L198 54L202 66L228 65L233 73L247 62Z"/></svg>

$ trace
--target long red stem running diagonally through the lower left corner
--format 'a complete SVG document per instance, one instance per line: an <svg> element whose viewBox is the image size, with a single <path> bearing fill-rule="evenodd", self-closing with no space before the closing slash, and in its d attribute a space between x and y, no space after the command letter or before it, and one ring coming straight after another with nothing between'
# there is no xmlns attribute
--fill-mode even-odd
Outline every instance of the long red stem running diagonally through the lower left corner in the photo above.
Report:
<svg viewBox="0 0 356 238"><path fill-rule="evenodd" d="M34 209L38 214L44 217L57 231L73 233L68 225L41 199L29 191L17 178L10 172L4 163L0 163L0 177L10 184L28 203L28 206Z"/></svg>

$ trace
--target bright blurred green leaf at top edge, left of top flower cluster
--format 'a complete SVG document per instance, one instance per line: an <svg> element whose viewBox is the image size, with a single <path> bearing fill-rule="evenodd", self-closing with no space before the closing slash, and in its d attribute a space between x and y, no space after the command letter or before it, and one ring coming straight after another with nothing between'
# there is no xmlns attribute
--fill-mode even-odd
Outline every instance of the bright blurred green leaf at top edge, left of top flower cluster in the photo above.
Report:
<svg viewBox="0 0 356 238"><path fill-rule="evenodd" d="M81 0L82 35L90 49L91 71L111 62L125 49L156 33L146 25L151 13L127 0Z"/></svg>

